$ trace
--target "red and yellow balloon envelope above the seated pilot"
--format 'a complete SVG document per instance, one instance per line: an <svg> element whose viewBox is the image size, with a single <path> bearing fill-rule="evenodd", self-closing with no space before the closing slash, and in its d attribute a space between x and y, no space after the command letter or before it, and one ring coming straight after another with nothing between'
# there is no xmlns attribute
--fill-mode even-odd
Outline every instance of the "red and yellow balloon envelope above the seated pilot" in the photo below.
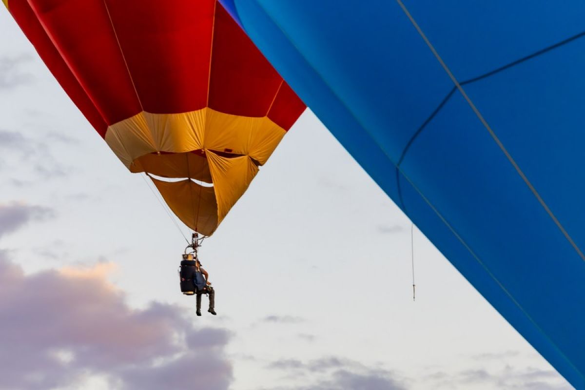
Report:
<svg viewBox="0 0 585 390"><path fill-rule="evenodd" d="M305 109L216 0L3 1L113 153L206 236Z"/></svg>

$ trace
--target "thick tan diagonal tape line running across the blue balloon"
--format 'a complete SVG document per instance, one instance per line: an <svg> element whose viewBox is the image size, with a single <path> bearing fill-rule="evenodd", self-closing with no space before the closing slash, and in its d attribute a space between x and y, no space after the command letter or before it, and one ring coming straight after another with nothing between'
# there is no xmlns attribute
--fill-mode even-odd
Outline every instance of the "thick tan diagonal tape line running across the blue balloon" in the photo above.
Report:
<svg viewBox="0 0 585 390"><path fill-rule="evenodd" d="M561 225L561 223L559 222L559 220L553 214L552 210L550 210L549 207L548 207L548 205L546 205L544 199L541 198L541 195L538 193L538 191L536 191L536 188L534 188L534 186L528 180L528 178L526 177L526 175L524 174L524 172L522 172L522 170L520 169L519 165L516 163L516 161L514 160L514 158L512 158L510 152L508 152L508 150L505 149L504 144L502 143L502 141L500 141L500 139L498 138L498 136L495 134L494 130L491 129L490 125L488 125L486 119L483 118L483 115L481 115L481 113L479 112L479 109L477 109L477 107L474 105L472 99L470 99L469 96L467 96L466 92L464 91L464 89L461 86L461 84L459 83L459 81L457 81L457 79L455 78L455 76L451 73L451 71L449 70L449 67L445 64L445 61L443 61L443 58L441 58L441 56L439 56L439 53L435 50L435 47L433 47L433 45L431 44L431 42L429 41L429 39L426 37L425 33L422 32L421 27L418 25L418 23L416 22L416 20L414 20L414 18L410 14L410 12L408 12L408 9L406 8L406 6L404 4L402 4L402 1L401 0L396 0L396 1L398 2L398 5L400 5L400 7L402 8L402 11L404 11L404 13L408 16L408 19L410 20L410 22L412 23L412 25L417 29L419 35L425 41L426 46L428 46L429 49L431 49L431 51L434 54L435 58L439 61L439 63L443 67L443 70L445 70L445 72L449 75L449 78L451 79L451 81L453 81L453 83L455 84L455 86L457 87L457 89L459 89L459 92L463 95L463 98L467 101L467 104L469 104L470 108L472 108L472 110L476 114L477 118L481 121L481 124L484 127L486 127L487 131L490 133L490 135L494 139L495 143L497 143L497 145L500 147L501 151L503 151L503 153L505 154L505 156L508 158L508 161L510 161L510 163L515 168L515 170L518 172L518 174L520 175L520 177L522 178L522 180L524 180L525 184L528 186L528 188L530 189L530 191L532 191L532 194L534 194L534 196L536 197L536 199L538 200L538 202L541 203L541 206L545 209L546 213L548 213L548 215L550 216L550 218L553 220L553 222L555 222L556 226L560 229L560 231L563 233L563 235L565 236L565 238L573 246L573 249L575 251L577 251L577 254L579 254L579 256L581 257L581 259L585 261L585 255L583 254L583 252L581 252L581 250L579 249L579 247L577 246L577 244L573 241L572 237L569 236L569 233L565 230L565 227L563 227L563 225Z"/></svg>

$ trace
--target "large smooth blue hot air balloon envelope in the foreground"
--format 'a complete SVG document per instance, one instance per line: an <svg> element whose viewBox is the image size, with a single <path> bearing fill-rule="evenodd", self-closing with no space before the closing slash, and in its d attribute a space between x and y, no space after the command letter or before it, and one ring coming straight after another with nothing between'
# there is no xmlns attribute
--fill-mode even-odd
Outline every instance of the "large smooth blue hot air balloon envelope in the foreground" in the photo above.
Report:
<svg viewBox="0 0 585 390"><path fill-rule="evenodd" d="M585 389L585 4L222 3L457 270Z"/></svg>

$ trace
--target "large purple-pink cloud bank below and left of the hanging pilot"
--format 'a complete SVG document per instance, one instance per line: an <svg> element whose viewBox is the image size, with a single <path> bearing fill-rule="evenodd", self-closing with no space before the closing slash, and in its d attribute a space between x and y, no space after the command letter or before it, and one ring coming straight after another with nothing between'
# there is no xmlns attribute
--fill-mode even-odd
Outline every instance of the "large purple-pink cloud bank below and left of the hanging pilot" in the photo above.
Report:
<svg viewBox="0 0 585 390"><path fill-rule="evenodd" d="M111 264L32 275L0 251L0 389L225 390L230 333L194 326L178 306L132 309L106 280Z"/></svg>

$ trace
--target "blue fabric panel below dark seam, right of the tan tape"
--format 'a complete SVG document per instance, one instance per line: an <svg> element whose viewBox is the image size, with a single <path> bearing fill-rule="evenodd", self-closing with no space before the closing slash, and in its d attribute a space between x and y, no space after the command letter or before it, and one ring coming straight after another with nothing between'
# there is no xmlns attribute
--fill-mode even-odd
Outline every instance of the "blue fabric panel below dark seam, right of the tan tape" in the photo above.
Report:
<svg viewBox="0 0 585 390"><path fill-rule="evenodd" d="M585 37L465 86L581 250L585 249L584 72Z"/></svg>

